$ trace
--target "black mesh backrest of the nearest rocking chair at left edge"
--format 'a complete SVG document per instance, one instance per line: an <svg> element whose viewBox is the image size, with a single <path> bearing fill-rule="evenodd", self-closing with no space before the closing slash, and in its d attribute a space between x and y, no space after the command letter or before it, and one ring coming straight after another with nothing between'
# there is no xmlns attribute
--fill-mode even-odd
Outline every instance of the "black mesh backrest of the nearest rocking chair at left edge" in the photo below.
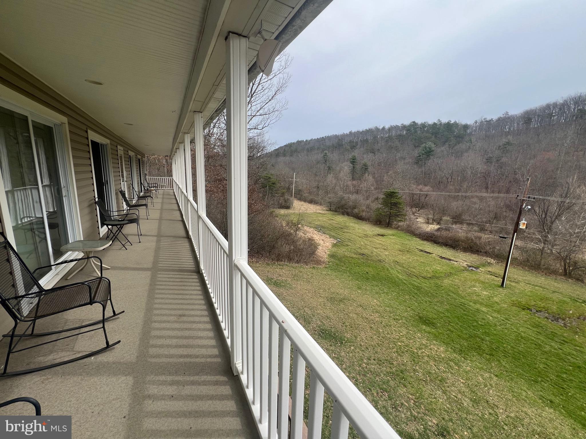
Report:
<svg viewBox="0 0 586 439"><path fill-rule="evenodd" d="M18 296L42 291L42 287L6 236L0 235L4 238L0 242L0 301L12 318L23 320L36 306L39 297L35 294L28 297Z"/></svg>

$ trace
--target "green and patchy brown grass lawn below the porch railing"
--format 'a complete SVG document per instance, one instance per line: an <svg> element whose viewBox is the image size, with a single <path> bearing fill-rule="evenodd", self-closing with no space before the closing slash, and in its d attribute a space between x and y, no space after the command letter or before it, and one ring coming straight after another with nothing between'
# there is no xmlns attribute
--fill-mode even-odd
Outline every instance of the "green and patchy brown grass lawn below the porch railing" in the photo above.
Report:
<svg viewBox="0 0 586 439"><path fill-rule="evenodd" d="M502 263L331 212L304 222L340 240L325 267L254 269L401 437L586 438L583 284L513 267L502 289Z"/></svg>

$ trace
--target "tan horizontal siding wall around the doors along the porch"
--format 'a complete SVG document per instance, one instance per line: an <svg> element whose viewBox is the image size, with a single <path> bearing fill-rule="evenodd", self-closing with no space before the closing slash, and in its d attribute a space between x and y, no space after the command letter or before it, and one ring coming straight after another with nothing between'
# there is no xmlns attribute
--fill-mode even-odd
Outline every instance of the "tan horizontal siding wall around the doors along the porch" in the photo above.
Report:
<svg viewBox="0 0 586 439"><path fill-rule="evenodd" d="M100 122L91 118L83 110L76 107L62 95L52 88L30 75L27 71L13 63L11 60L0 54L0 84L22 94L30 100L42 104L67 118L69 126L69 140L71 155L73 157L73 170L77 186L77 200L79 202L81 230L85 239L97 239L98 218L94 204L94 183L90 162L90 147L88 144L87 130L93 131L110 141L111 168L113 170L115 198L118 206L121 207L120 194L120 167L118 165L118 148L124 148L125 167L127 177L130 178L128 166L128 150L137 155L143 155L137 148L125 142L124 139L115 135ZM128 185L130 189L130 185Z"/></svg>

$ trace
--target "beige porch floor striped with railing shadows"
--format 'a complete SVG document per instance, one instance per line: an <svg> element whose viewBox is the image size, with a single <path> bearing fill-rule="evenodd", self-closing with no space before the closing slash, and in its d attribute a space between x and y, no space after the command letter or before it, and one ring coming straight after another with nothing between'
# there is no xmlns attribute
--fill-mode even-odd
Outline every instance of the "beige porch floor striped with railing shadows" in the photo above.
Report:
<svg viewBox="0 0 586 439"><path fill-rule="evenodd" d="M43 415L71 415L73 438L258 437L172 191L159 191L149 212L146 219L141 208L141 243L128 225L124 232L134 245L125 251L115 242L97 253L112 267L104 276L111 280L116 311L125 310L107 322L108 338L122 342L68 365L0 378L0 402L30 396L39 400ZM92 277L87 266L60 284ZM40 320L36 331L98 318L101 307L84 307ZM58 336L37 340L50 337ZM32 339L23 340L19 347L30 344ZM90 332L13 354L8 370L62 361L103 345L103 332ZM2 365L7 347L7 339L0 341ZM0 414L34 411L19 403Z"/></svg>

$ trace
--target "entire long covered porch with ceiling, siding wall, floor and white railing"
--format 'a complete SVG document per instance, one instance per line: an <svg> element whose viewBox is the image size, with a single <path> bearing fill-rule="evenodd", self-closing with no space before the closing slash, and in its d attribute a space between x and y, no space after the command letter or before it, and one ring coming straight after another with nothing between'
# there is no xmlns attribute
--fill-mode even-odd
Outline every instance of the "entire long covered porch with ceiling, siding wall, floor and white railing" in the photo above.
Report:
<svg viewBox="0 0 586 439"><path fill-rule="evenodd" d="M13 159L6 163L28 170L41 194L47 160L36 153L43 139L35 128L50 124L52 187L56 200L67 201L57 228L62 243L105 239L96 200L109 210L128 205L120 196L142 191L145 155L172 159L165 186L172 191L159 191L149 219L141 217L143 242L99 253L112 267L104 276L114 305L125 310L106 323L110 341L121 344L5 376L4 399L36 397L43 414L72 415L74 437L302 439L306 432L342 439L350 426L363 439L398 437L248 265L248 83L260 73L264 40L284 49L329 1L3 5L0 128L11 134L4 149ZM272 47L274 59L280 49ZM224 111L227 239L207 218L203 144L204 127ZM21 160L22 151L34 160ZM19 219L2 193L28 186L0 171L0 219L11 232ZM51 252L53 212L45 196L38 199L45 259L77 256ZM16 242L14 234L8 239ZM71 266L60 267L43 287L94 276L85 269L61 280ZM92 308L47 318L38 331L100 318ZM100 331L67 338L13 355L11 368L63 361L102 341Z"/></svg>

